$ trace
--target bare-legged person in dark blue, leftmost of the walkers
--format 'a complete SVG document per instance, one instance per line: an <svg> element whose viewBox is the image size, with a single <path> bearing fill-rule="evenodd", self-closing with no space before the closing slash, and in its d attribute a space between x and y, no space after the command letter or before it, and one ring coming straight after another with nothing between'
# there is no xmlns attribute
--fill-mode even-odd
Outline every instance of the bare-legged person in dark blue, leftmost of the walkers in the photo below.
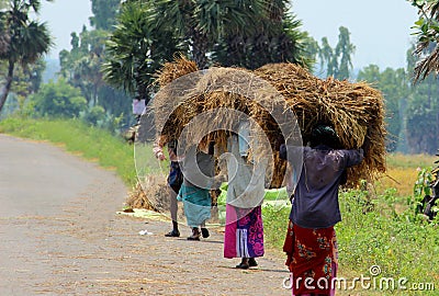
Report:
<svg viewBox="0 0 439 296"><path fill-rule="evenodd" d="M157 159L160 161L166 160L164 153L164 144L160 140L154 144L153 151ZM172 219L172 230L166 234L166 237L180 237L180 231L178 228L177 213L178 213L178 202L177 194L180 191L181 184L183 183L183 174L181 172L178 159L177 159L177 140L171 140L167 144L169 153L169 175L167 179L168 191L170 195L170 213Z"/></svg>

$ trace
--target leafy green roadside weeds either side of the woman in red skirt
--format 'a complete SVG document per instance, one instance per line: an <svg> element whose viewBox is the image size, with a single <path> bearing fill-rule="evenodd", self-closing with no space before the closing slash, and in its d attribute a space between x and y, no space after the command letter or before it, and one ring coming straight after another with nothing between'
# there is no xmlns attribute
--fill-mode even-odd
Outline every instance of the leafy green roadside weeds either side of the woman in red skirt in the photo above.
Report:
<svg viewBox="0 0 439 296"><path fill-rule="evenodd" d="M370 267L379 265L380 278L406 278L408 284L434 283L439 288L439 217L429 224L415 216L413 208L403 213L395 210L395 204L403 203L396 191L389 189L385 194L368 203L367 192L347 191L340 193L342 221L337 224L339 247L339 276L350 278L370 276ZM282 250L286 235L290 207L262 208L267 244ZM408 285L407 284L407 285ZM409 291L365 291L357 285L354 295L419 295ZM345 294L346 293L346 294ZM376 293L376 294L375 294ZM352 295L341 292L341 295Z"/></svg>

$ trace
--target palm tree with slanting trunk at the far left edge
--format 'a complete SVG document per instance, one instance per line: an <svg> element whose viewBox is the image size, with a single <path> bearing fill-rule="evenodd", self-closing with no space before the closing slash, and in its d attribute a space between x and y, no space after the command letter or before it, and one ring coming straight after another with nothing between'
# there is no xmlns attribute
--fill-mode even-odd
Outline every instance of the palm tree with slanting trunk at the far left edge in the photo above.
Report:
<svg viewBox="0 0 439 296"><path fill-rule="evenodd" d="M33 64L50 49L52 38L46 24L29 18L30 12L38 13L40 7L38 0L11 0L9 7L0 12L1 23L10 38L7 50L0 53L0 59L8 64L5 86L0 93L0 112L11 90L15 65L20 62L25 67Z"/></svg>

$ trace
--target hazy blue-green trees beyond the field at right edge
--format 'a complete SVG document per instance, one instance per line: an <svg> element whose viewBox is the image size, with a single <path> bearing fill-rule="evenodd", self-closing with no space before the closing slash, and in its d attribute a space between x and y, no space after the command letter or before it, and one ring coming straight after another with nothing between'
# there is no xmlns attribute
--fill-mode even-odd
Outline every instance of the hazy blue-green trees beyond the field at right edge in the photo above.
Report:
<svg viewBox="0 0 439 296"><path fill-rule="evenodd" d="M367 80L383 92L385 122L389 132L389 151L432 155L439 147L439 80L429 75L418 83L410 83L412 72L418 62L407 53L407 69L385 69L375 65L363 68L358 80Z"/></svg>

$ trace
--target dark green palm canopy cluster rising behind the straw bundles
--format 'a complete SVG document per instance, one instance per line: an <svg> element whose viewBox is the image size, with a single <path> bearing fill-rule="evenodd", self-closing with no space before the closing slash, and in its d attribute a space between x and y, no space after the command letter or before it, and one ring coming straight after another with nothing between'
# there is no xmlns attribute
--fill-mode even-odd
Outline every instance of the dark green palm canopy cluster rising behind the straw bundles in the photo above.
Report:
<svg viewBox="0 0 439 296"><path fill-rule="evenodd" d="M125 1L106 43L104 80L148 101L156 71L177 53L200 69L306 64L309 38L288 10L285 0Z"/></svg>

